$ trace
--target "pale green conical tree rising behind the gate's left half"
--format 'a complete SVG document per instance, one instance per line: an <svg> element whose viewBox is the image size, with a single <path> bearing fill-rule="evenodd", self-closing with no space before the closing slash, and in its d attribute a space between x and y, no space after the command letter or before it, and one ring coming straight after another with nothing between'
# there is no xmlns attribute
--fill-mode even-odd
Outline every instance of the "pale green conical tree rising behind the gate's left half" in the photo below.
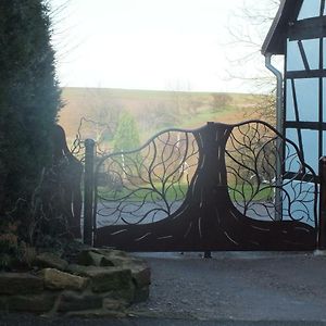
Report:
<svg viewBox="0 0 326 326"><path fill-rule="evenodd" d="M123 112L114 135L114 152L134 150L139 146L137 122L129 112Z"/></svg>

